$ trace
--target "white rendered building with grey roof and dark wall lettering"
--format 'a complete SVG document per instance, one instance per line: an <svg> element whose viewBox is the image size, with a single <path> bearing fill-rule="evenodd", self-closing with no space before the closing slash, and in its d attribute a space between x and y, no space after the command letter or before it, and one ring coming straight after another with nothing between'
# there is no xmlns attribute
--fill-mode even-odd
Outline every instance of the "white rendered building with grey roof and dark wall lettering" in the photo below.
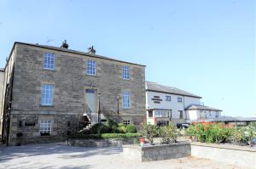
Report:
<svg viewBox="0 0 256 169"><path fill-rule="evenodd" d="M166 125L215 119L221 110L201 105L201 97L176 87L146 82L147 122Z"/></svg>

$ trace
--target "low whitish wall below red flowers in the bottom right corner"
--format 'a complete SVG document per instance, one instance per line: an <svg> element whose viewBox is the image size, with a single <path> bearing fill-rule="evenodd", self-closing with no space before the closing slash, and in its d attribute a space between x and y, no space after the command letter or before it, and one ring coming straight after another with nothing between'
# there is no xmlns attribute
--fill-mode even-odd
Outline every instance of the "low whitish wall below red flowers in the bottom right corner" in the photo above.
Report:
<svg viewBox="0 0 256 169"><path fill-rule="evenodd" d="M191 143L191 155L243 168L256 168L256 149L229 144Z"/></svg>

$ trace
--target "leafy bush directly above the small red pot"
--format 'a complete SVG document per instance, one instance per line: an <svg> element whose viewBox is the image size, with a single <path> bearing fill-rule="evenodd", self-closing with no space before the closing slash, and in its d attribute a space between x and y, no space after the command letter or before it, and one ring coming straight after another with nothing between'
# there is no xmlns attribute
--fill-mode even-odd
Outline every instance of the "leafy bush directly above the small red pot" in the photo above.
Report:
<svg viewBox="0 0 256 169"><path fill-rule="evenodd" d="M158 135L158 127L144 122L141 133L144 138L147 138L148 141L153 144L154 138Z"/></svg>

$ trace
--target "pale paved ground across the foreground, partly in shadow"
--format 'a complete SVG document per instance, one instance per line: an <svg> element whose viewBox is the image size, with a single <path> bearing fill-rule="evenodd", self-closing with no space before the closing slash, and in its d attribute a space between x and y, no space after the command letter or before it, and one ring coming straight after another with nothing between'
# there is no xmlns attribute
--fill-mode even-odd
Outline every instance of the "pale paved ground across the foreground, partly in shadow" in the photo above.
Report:
<svg viewBox="0 0 256 169"><path fill-rule="evenodd" d="M0 168L235 169L238 167L194 157L142 163L125 160L122 156L122 149L119 148L84 148L68 147L64 144L39 144L0 147Z"/></svg>

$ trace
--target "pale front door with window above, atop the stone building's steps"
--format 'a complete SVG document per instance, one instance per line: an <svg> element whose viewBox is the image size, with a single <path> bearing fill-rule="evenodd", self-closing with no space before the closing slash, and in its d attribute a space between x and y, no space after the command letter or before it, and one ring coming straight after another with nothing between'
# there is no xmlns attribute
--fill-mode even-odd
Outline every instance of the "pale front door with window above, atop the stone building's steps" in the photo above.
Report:
<svg viewBox="0 0 256 169"><path fill-rule="evenodd" d="M91 124L98 122L96 113L96 90L95 89L85 89L85 113L90 115Z"/></svg>

